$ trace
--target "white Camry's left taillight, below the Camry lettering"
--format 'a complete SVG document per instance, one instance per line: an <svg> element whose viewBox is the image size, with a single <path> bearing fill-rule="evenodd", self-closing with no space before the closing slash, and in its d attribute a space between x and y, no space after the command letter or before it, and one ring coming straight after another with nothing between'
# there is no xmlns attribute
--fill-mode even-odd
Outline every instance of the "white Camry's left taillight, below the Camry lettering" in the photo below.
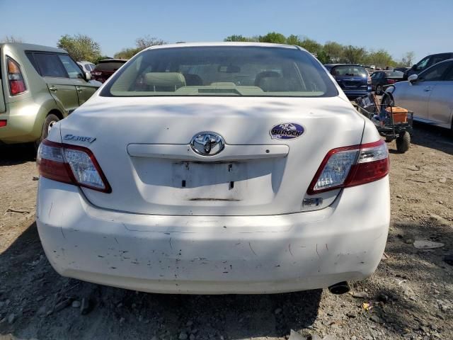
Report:
<svg viewBox="0 0 453 340"><path fill-rule="evenodd" d="M43 140L38 149L38 170L42 177L84 186L103 193L112 189L90 149Z"/></svg>

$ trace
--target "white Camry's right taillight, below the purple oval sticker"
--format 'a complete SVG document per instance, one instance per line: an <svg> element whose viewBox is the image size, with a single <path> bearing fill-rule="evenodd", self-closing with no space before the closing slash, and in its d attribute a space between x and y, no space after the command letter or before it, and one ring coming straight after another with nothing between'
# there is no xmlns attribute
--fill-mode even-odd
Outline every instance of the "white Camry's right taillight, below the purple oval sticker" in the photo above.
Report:
<svg viewBox="0 0 453 340"><path fill-rule="evenodd" d="M314 195L377 181L389 174L389 169L384 140L333 149L324 157L307 193Z"/></svg>

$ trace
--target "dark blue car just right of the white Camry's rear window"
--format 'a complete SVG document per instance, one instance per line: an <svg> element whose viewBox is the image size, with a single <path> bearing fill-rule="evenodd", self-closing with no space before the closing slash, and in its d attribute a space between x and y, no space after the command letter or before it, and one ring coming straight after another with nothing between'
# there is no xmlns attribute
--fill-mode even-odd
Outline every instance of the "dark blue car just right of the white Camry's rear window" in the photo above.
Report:
<svg viewBox="0 0 453 340"><path fill-rule="evenodd" d="M371 77L365 67L355 64L325 64L340 88L349 99L365 96L371 92Z"/></svg>

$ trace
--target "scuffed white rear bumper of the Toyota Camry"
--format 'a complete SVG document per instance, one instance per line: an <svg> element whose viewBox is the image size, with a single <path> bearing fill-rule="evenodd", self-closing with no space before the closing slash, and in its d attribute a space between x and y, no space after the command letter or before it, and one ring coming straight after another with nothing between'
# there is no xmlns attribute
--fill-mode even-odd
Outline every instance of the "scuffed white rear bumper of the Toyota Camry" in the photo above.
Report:
<svg viewBox="0 0 453 340"><path fill-rule="evenodd" d="M388 177L329 208L274 216L135 215L40 179L42 246L63 276L154 293L282 293L374 272L389 229Z"/></svg>

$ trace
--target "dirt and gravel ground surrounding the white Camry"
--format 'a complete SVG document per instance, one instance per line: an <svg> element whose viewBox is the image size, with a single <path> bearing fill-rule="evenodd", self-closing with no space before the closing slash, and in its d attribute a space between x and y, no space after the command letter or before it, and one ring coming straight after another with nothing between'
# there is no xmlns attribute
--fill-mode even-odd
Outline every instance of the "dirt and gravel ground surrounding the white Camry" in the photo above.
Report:
<svg viewBox="0 0 453 340"><path fill-rule="evenodd" d="M406 154L394 142L389 148L391 228L372 277L352 283L347 295L209 296L138 293L59 276L34 222L33 152L1 147L0 340L453 339L453 266L444 261L453 253L453 138L417 125ZM416 240L444 246L420 250ZM72 307L86 302L83 313Z"/></svg>

